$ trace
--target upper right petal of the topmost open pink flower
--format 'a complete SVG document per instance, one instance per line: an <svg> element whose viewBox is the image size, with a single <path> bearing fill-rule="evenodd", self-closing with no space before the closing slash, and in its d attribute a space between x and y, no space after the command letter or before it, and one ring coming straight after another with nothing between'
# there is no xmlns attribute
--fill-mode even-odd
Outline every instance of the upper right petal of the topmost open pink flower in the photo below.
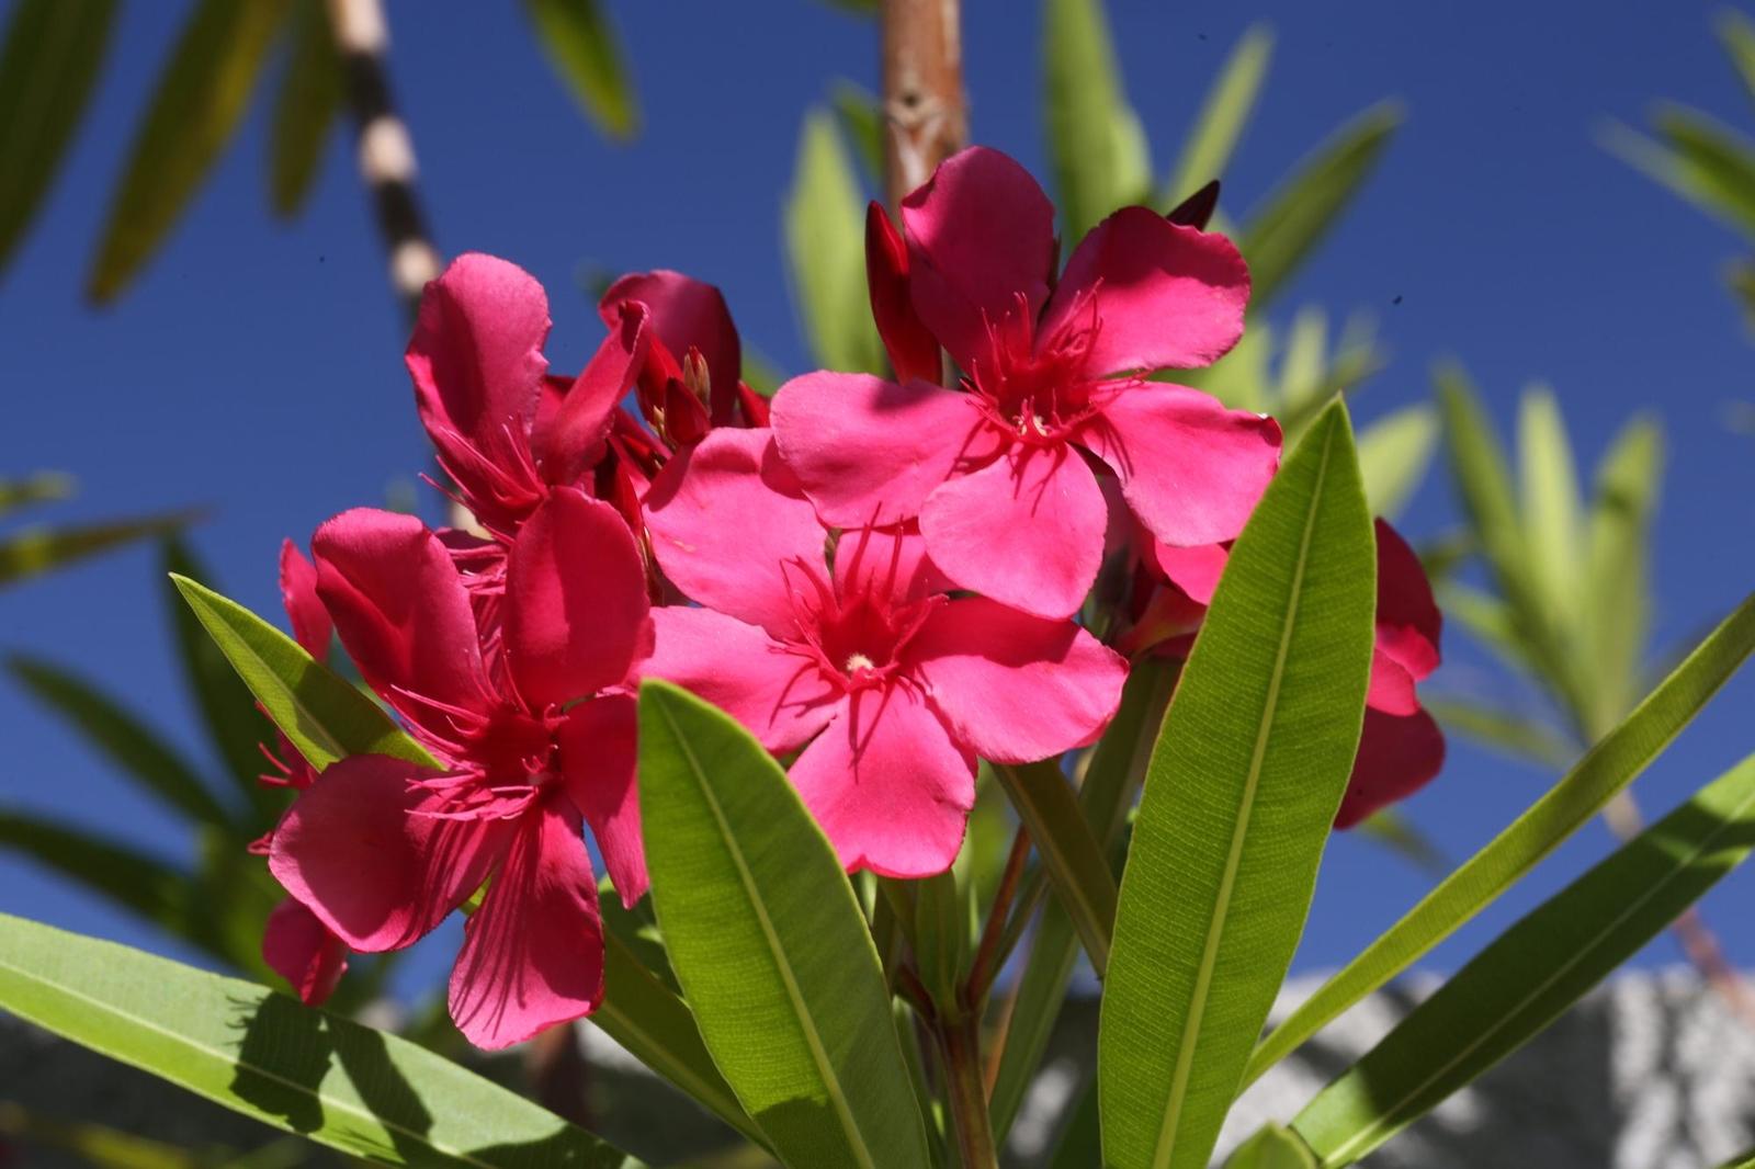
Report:
<svg viewBox="0 0 1755 1169"><path fill-rule="evenodd" d="M1250 269L1223 235L1123 207L1067 260L1037 337L1088 326L1093 298L1092 374L1211 365L1243 335Z"/></svg>

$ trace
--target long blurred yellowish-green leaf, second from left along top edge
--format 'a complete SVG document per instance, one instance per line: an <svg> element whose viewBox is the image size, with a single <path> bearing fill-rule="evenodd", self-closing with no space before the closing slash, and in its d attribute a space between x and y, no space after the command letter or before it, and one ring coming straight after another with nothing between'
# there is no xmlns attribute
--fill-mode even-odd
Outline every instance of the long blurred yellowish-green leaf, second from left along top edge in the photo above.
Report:
<svg viewBox="0 0 1755 1169"><path fill-rule="evenodd" d="M286 0L200 0L140 116L128 167L111 195L86 293L114 300L188 211L232 140Z"/></svg>

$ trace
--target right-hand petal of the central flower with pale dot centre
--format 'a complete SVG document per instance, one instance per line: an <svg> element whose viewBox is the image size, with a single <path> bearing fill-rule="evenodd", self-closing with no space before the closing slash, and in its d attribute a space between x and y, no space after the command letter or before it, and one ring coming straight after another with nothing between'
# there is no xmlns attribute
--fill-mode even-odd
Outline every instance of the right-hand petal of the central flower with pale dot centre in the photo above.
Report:
<svg viewBox="0 0 1755 1169"><path fill-rule="evenodd" d="M986 597L942 606L907 648L951 737L995 764L1093 742L1114 716L1127 662L1072 621Z"/></svg>

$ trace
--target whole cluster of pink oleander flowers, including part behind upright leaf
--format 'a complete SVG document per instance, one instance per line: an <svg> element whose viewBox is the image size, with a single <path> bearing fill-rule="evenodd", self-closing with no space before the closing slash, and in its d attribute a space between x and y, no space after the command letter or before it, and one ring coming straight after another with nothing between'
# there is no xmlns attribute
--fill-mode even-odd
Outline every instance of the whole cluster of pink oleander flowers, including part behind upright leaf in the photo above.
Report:
<svg viewBox="0 0 1755 1169"><path fill-rule="evenodd" d="M1237 342L1248 304L1243 258L1202 226L1123 207L1058 265L1035 181L967 149L900 228L869 214L893 377L813 372L772 402L704 283L620 279L567 377L544 358L542 288L456 260L407 349L456 527L356 509L281 560L300 644L339 637L437 767L365 755L318 774L272 748L295 799L260 844L288 893L267 960L321 1000L349 951L469 909L449 1009L470 1041L588 1015L593 846L625 904L648 886L644 678L742 721L849 871L946 871L979 760L1095 742L1132 660L1186 653L1278 467L1272 420L1174 383ZM1343 827L1443 758L1415 695L1437 609L1386 525L1379 560ZM1100 574L1125 588L1093 595Z"/></svg>

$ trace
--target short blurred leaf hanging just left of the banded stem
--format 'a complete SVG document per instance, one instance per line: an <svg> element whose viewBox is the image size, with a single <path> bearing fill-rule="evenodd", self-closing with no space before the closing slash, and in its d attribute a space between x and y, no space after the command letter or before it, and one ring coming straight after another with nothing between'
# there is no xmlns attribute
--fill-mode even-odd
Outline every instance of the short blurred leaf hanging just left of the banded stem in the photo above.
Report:
<svg viewBox="0 0 1755 1169"><path fill-rule="evenodd" d="M283 218L298 214L311 195L342 100L342 65L325 4L295 2L293 51L269 139L269 202Z"/></svg>

